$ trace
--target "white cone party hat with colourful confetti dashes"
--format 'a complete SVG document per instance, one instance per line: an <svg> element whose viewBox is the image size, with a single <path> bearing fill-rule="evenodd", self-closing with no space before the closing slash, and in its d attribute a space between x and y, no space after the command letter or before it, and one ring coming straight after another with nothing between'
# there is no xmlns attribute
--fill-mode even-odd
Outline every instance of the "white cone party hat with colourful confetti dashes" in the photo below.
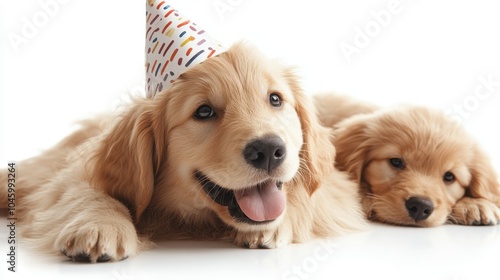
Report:
<svg viewBox="0 0 500 280"><path fill-rule="evenodd" d="M161 0L146 3L146 94L166 90L189 67L225 49Z"/></svg>

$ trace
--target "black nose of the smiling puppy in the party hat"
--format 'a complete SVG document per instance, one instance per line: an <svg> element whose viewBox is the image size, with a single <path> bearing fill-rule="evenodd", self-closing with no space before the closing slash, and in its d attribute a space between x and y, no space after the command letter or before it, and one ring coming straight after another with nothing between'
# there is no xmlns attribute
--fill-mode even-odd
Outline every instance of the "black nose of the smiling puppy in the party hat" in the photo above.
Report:
<svg viewBox="0 0 500 280"><path fill-rule="evenodd" d="M263 137L248 143L243 156L255 168L271 173L285 159L285 142L278 136Z"/></svg>

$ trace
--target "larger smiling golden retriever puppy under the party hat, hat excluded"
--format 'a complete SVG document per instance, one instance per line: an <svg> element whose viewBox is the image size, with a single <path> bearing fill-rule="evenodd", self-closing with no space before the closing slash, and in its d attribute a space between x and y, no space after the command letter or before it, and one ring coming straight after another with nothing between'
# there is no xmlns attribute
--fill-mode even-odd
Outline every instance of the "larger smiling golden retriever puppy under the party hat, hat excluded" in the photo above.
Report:
<svg viewBox="0 0 500 280"><path fill-rule="evenodd" d="M329 137L289 69L235 44L18 163L18 221L32 243L90 262L160 237L275 248L361 229Z"/></svg>

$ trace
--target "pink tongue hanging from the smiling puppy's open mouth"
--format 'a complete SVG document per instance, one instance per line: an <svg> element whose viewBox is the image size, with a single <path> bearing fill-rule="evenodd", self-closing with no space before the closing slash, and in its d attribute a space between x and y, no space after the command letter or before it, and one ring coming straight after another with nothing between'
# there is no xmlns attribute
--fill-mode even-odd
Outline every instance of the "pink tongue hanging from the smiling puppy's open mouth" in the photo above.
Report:
<svg viewBox="0 0 500 280"><path fill-rule="evenodd" d="M262 222L278 218L285 209L285 196L276 182L266 182L258 187L235 191L234 196L241 211L253 221Z"/></svg>

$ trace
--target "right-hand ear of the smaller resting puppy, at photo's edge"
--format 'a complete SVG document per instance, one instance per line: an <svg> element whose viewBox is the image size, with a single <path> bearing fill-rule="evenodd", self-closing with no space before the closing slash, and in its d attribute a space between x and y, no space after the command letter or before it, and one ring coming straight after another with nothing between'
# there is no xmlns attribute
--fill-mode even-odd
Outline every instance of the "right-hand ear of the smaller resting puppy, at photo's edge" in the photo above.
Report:
<svg viewBox="0 0 500 280"><path fill-rule="evenodd" d="M490 160L483 151L476 150L470 167L471 182L468 195L487 199L500 207L500 183Z"/></svg>

